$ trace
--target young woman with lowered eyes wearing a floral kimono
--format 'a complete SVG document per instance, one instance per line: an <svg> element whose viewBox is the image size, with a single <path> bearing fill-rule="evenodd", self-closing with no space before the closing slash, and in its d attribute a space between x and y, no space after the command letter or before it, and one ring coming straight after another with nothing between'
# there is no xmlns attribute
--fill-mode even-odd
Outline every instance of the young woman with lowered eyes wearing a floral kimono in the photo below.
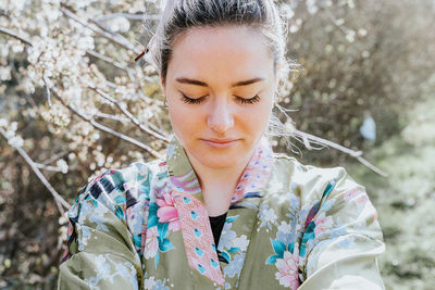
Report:
<svg viewBox="0 0 435 290"><path fill-rule="evenodd" d="M167 1L149 49L166 157L82 189L59 289L384 289L364 188L266 138L288 73L273 1Z"/></svg>

